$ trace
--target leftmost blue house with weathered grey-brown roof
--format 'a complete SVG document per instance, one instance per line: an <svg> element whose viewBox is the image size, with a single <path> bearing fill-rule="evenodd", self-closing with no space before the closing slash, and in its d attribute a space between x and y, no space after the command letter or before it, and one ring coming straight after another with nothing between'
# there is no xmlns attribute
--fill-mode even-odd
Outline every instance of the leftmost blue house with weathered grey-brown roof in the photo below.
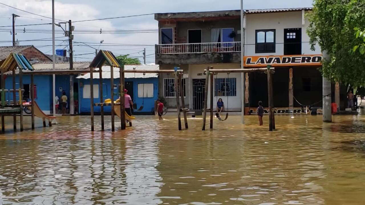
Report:
<svg viewBox="0 0 365 205"><path fill-rule="evenodd" d="M75 70L84 70L85 72L89 71L90 62L74 62L73 67ZM38 62L32 65L34 70L36 71L51 71L53 70L52 62ZM55 70L69 70L70 65L68 62L55 62ZM23 73L23 99L30 99L30 75L28 74L31 71L24 71ZM13 82L12 82L12 72L5 73L7 78L5 79L5 89L13 89ZM16 89L19 89L19 69L16 69ZM74 76L76 78L76 76ZM39 108L46 113L52 113L53 109L53 92L52 92L52 75L35 75L34 76L34 99L39 105ZM78 93L78 83L74 81L74 93ZM61 99L62 91L66 92L66 96L68 97L68 105L70 104L70 77L66 75L56 75L55 76L55 94ZM5 94L6 100L13 100L11 94ZM18 93L17 93L18 96ZM78 97L79 94L77 94ZM19 100L19 97L16 97L16 100ZM77 99L75 99L77 100ZM68 108L69 109L69 108Z"/></svg>

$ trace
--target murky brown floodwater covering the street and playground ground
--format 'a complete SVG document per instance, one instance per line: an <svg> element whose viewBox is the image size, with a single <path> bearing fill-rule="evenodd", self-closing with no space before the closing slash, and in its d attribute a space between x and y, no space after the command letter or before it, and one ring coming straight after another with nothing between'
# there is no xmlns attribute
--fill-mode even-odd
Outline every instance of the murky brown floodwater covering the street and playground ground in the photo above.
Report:
<svg viewBox="0 0 365 205"><path fill-rule="evenodd" d="M274 132L257 116L188 119L137 116L95 132L89 116L0 135L0 202L5 204L328 204L365 201L365 115L276 116ZM209 120L207 120L207 123ZM120 121L116 120L116 128ZM18 125L19 128L19 125Z"/></svg>

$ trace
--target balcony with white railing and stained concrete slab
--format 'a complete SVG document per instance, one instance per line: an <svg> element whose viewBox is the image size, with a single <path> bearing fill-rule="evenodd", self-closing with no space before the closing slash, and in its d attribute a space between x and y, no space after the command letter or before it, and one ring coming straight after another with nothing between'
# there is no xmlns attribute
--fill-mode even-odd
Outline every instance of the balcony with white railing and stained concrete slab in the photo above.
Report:
<svg viewBox="0 0 365 205"><path fill-rule="evenodd" d="M155 45L156 64L240 63L241 42Z"/></svg>

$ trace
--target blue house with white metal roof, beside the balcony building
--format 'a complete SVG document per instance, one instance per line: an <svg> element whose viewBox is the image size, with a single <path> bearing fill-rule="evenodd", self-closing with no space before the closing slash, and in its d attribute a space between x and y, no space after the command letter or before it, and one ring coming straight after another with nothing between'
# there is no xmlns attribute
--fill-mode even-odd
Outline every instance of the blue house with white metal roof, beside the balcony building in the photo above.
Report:
<svg viewBox="0 0 365 205"><path fill-rule="evenodd" d="M103 66L103 100L111 98L110 88L110 67ZM158 65L125 65L125 70L158 70ZM114 85L119 84L119 68L114 68ZM134 102L137 104L137 109L143 105L141 111L134 111L134 114L153 114L154 101L158 99L158 75L156 73L125 73L125 88ZM79 113L90 113L90 73L77 77L80 87L79 93ZM99 72L93 73L94 84L94 102L100 102L99 91ZM118 99L119 86L114 86L114 99ZM100 112L100 107L95 106L94 112ZM111 112L111 107L104 107L104 112Z"/></svg>

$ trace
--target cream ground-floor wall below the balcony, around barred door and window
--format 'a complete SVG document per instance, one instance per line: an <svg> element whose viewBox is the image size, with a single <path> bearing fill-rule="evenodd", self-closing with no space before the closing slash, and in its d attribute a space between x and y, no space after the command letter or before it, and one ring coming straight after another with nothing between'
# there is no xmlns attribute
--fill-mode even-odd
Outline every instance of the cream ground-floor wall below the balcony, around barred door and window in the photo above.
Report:
<svg viewBox="0 0 365 205"><path fill-rule="evenodd" d="M189 78L190 79L200 79L204 78L205 75L198 76L199 73L204 73L204 69L207 69L208 66L213 66L214 69L240 69L241 65L237 63L222 63L222 64L194 64L189 65ZM219 73L218 75L214 76L214 78L227 78L227 73ZM216 108L216 101L219 98L222 98L224 102L224 106L228 108L228 111L241 111L241 93L242 93L242 86L241 86L241 73L230 73L229 78L236 78L236 96L213 96L213 107ZM189 81L192 83L192 81ZM214 86L213 86L214 87ZM192 93L192 92L191 92ZM210 86L208 88L208 108L210 108ZM192 108L192 100L190 104Z"/></svg>

